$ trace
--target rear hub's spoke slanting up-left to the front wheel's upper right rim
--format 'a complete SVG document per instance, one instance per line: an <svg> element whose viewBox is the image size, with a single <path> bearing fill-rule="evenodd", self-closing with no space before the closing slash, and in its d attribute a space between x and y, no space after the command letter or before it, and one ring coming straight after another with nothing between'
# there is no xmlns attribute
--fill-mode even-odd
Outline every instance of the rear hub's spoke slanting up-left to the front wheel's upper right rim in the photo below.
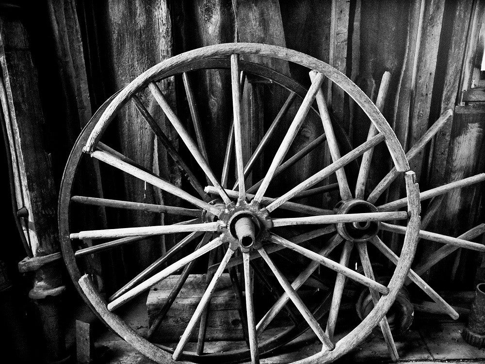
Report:
<svg viewBox="0 0 485 364"><path fill-rule="evenodd" d="M317 78L317 72L310 71L310 80L313 83ZM322 88L319 87L317 95L315 96L317 100L318 111L320 113L320 118L322 119L323 130L327 137L327 145L330 150L330 155L332 161L336 162L340 159L340 150L337 143L337 138L335 137L335 132L332 127L332 120L330 119L330 114L328 113L327 104L325 98L323 97ZM339 182L340 197L343 200L352 199L352 193L350 192L349 182L347 182L347 176L345 175L345 170L339 168L335 171L337 175L337 181Z"/></svg>

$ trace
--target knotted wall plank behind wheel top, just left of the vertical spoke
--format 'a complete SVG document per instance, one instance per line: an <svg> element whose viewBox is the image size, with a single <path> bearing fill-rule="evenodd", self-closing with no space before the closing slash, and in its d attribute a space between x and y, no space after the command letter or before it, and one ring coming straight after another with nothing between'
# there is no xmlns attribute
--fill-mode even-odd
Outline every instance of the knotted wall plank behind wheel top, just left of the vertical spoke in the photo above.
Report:
<svg viewBox="0 0 485 364"><path fill-rule="evenodd" d="M179 52L235 41L234 13L230 0L174 1L172 5L175 12L174 31L177 29L179 32L175 38ZM209 163L216 176L221 176L232 120L230 72L207 70L190 75ZM234 181L231 180L231 183Z"/></svg>

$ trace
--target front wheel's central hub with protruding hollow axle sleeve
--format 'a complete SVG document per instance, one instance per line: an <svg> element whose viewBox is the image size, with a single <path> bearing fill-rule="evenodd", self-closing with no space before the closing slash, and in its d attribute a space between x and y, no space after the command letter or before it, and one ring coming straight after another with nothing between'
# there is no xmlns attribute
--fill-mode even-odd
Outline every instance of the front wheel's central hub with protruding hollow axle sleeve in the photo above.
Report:
<svg viewBox="0 0 485 364"><path fill-rule="evenodd" d="M256 202L243 200L227 204L219 216L220 238L229 243L233 250L249 251L258 249L269 237L268 229L273 226L268 211Z"/></svg>

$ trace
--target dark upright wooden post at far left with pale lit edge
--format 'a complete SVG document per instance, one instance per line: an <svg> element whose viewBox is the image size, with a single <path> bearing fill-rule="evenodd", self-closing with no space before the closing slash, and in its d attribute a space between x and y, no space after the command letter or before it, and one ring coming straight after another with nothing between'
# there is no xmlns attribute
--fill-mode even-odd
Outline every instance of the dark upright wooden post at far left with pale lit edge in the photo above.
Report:
<svg viewBox="0 0 485 364"><path fill-rule="evenodd" d="M43 145L44 116L37 71L33 66L29 36L15 14L0 17L0 101L6 123L17 208L28 213L22 219L33 258L59 250L57 196L52 166ZM25 209L24 209L25 208ZM27 215L27 214L25 214ZM59 295L64 291L57 263L35 270L29 297L38 305L46 340L48 361L65 356L64 324Z"/></svg>

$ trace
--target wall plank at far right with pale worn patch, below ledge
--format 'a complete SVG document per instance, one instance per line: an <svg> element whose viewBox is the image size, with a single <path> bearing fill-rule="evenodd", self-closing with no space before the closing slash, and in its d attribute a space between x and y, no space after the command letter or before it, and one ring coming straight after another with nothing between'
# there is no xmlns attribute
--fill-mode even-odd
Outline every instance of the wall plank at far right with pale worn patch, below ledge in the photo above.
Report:
<svg viewBox="0 0 485 364"><path fill-rule="evenodd" d="M483 107L457 106L453 117L450 151L448 155L448 181L453 182L485 171L485 110ZM458 236L480 222L483 203L483 184L456 189L448 193L439 214L436 214L434 230L450 236ZM447 257L434 270L431 279L437 285L450 284L451 267L455 255ZM479 254L462 249L456 279L461 289L468 284L472 289L475 270L480 262ZM469 282L469 283L467 283Z"/></svg>

